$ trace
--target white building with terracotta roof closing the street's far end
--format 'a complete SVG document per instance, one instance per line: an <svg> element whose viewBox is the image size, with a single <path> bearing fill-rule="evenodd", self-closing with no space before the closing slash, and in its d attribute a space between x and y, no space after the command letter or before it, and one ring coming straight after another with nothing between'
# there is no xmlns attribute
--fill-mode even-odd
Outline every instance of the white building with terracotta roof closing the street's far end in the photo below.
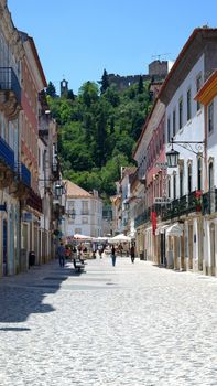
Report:
<svg viewBox="0 0 217 386"><path fill-rule="evenodd" d="M64 237L75 234L102 236L102 201L98 192L88 193L68 180L65 181L65 187Z"/></svg>

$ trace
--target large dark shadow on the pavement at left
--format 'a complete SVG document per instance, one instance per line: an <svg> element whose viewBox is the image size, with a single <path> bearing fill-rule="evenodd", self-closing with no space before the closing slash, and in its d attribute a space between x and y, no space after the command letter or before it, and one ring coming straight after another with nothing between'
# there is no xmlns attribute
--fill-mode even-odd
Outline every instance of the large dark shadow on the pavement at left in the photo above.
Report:
<svg viewBox="0 0 217 386"><path fill-rule="evenodd" d="M72 267L59 268L52 262L36 270L7 277L0 280L0 323L21 323L32 313L53 312L55 309L44 302L47 294L56 293L69 276L79 276ZM28 329L2 328L2 331Z"/></svg>

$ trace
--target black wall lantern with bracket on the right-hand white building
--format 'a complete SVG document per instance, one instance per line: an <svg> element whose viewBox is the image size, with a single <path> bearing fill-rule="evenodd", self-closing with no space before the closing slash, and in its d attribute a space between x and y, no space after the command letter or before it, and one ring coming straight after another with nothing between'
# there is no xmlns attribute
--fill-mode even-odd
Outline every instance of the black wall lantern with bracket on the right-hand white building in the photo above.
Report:
<svg viewBox="0 0 217 386"><path fill-rule="evenodd" d="M205 141L174 141L173 138L171 138L169 143L172 144L172 148L171 151L166 152L167 168L177 168L180 152L173 149L174 143L197 156L199 151L204 150ZM195 144L196 150L193 149L192 144Z"/></svg>

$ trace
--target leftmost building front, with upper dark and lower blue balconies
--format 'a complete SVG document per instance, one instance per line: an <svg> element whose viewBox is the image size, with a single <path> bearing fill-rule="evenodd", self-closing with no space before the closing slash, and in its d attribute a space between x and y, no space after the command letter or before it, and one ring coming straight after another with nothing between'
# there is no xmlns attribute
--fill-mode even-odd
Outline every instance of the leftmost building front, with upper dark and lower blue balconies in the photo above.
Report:
<svg viewBox="0 0 217 386"><path fill-rule="evenodd" d="M21 61L24 54L7 1L0 1L0 277L20 264L20 201L14 182L29 179L19 170Z"/></svg>

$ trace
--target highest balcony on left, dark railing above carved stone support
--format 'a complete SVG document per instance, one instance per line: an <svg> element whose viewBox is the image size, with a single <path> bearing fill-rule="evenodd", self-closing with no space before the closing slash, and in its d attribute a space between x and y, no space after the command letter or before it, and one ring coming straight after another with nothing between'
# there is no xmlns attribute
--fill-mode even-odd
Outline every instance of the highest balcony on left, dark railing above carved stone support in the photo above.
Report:
<svg viewBox="0 0 217 386"><path fill-rule="evenodd" d="M0 110L9 120L17 119L21 106L21 86L12 67L0 67Z"/></svg>

